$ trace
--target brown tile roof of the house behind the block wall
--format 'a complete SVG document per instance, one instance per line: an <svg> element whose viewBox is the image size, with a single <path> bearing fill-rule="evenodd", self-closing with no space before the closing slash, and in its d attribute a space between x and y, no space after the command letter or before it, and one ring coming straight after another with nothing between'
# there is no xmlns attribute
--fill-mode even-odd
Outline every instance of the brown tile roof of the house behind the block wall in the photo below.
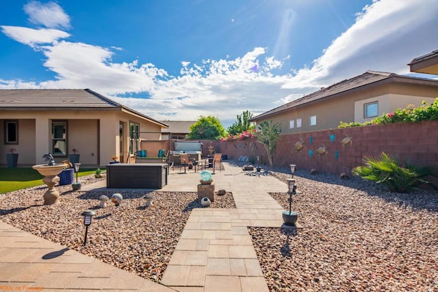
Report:
<svg viewBox="0 0 438 292"><path fill-rule="evenodd" d="M352 92L354 90L361 90L364 87L369 87L376 84L381 84L382 82L387 82L391 79L393 80L397 79L397 81L407 81L407 82L432 81L436 83L434 85L438 85L438 81L432 79L408 77L408 76L397 75L396 73L368 70L362 75L352 77L351 79L345 79L344 81L340 81L329 87L321 88L317 92L313 92L311 94L303 96L302 98L298 98L295 101L291 101L274 109L270 109L269 111L266 111L263 114L259 114L258 116L255 116L250 120L251 121L259 120L261 118L266 118L267 116L272 116L273 114L278 114L281 111L298 107L300 105L306 105L308 103L319 102L323 99L342 96L343 94L347 94L348 92Z"/></svg>

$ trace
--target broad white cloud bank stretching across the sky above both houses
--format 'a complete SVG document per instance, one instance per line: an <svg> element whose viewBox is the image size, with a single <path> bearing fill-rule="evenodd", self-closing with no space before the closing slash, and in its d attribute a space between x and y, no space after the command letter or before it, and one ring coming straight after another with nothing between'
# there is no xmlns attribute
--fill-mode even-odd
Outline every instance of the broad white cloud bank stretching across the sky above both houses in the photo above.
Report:
<svg viewBox="0 0 438 292"><path fill-rule="evenodd" d="M275 59L269 48L256 47L235 59L182 61L179 76L172 77L154 64L113 62L118 47L58 41L69 35L55 29L3 26L3 33L42 51L44 66L57 75L41 83L0 79L0 88L91 88L156 119L211 114L229 125L244 110L261 114L366 70L407 73L411 59L438 48L436 15L435 0L374 1L313 64L285 75L278 72L289 55ZM125 94L131 97L118 97Z"/></svg>

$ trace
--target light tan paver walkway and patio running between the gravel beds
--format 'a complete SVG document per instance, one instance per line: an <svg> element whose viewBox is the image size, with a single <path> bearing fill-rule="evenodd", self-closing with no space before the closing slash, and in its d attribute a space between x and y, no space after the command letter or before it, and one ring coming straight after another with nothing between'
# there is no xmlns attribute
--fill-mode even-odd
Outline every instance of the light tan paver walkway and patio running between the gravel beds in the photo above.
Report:
<svg viewBox="0 0 438 292"><path fill-rule="evenodd" d="M236 209L194 209L162 284L69 250L0 221L0 291L268 291L247 226L280 227L283 208L268 192L287 186L224 163L215 189L233 193ZM197 191L199 174L169 174L162 191ZM83 191L105 185L83 186ZM11 290L12 289L12 290ZM44 289L44 290L42 290Z"/></svg>

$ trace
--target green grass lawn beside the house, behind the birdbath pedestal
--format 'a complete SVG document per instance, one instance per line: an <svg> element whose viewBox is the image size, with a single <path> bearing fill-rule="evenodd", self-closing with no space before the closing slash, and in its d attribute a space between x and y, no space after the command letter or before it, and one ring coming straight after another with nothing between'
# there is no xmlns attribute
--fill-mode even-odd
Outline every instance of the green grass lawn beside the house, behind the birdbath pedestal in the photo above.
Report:
<svg viewBox="0 0 438 292"><path fill-rule="evenodd" d="M78 176L93 174L95 169L85 168L79 170ZM76 174L75 174L76 176ZM33 168L0 168L0 194L44 185L42 175Z"/></svg>

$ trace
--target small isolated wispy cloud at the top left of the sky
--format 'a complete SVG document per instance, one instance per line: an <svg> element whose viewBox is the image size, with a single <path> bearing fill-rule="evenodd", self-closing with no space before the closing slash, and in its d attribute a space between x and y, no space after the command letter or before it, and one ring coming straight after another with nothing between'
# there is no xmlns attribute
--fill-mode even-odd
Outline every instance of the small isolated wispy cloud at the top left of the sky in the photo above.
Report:
<svg viewBox="0 0 438 292"><path fill-rule="evenodd" d="M29 21L34 25L43 25L48 28L70 28L70 16L55 2L40 3L38 1L30 1L23 8Z"/></svg>

